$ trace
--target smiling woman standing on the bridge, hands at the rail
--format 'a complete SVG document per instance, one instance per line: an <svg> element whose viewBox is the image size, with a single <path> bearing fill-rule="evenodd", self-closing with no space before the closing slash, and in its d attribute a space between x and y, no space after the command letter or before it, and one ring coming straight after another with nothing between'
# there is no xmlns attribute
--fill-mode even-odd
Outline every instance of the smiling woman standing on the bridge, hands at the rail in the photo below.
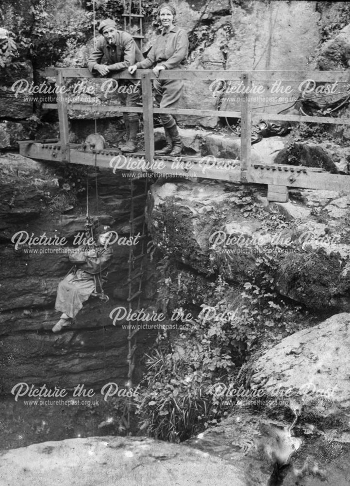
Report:
<svg viewBox="0 0 350 486"><path fill-rule="evenodd" d="M162 26L159 35L148 56L143 61L136 62L128 68L133 74L136 69L149 69L158 78L162 69L180 69L188 55L188 37L183 29L175 26L176 10L168 4L162 3L157 10L157 19ZM160 108L175 106L181 96L183 81L179 79L156 79L154 81L155 99ZM155 152L157 155L170 154L178 156L183 149L183 143L172 115L161 114L162 124L166 135L166 146Z"/></svg>

